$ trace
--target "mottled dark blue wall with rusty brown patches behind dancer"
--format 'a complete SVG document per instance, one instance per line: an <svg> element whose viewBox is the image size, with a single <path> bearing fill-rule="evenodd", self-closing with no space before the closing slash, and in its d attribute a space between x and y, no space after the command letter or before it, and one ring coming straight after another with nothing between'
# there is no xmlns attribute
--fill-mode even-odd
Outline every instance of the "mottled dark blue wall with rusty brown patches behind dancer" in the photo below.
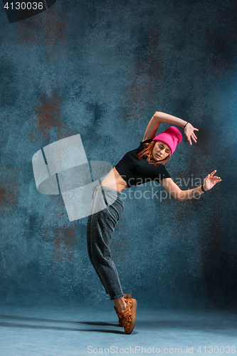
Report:
<svg viewBox="0 0 237 356"><path fill-rule="evenodd" d="M160 193L154 185L130 189L112 243L122 286L157 307L236 306L236 10L234 0L58 0L9 24L1 6L2 303L107 300L87 219L68 221L60 196L37 192L31 158L80 133L89 161L115 165L158 110L199 128L167 164L174 181L193 178L190 189L217 169L222 182L183 203L132 199Z"/></svg>

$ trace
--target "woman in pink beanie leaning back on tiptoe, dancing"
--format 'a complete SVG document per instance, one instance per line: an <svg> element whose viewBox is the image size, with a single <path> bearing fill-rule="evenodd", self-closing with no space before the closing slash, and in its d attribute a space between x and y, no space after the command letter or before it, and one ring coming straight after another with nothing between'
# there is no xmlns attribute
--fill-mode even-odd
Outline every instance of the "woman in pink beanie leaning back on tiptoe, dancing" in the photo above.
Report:
<svg viewBox="0 0 237 356"><path fill-rule="evenodd" d="M204 184L194 189L181 190L164 167L181 142L182 135L177 127L170 126L156 136L161 122L184 128L189 144L196 142L195 130L190 122L179 119L164 112L155 112L147 125L142 142L136 150L127 154L118 162L102 180L100 186L93 188L93 201L88 216L87 241L90 261L110 299L115 303L115 311L119 325L131 334L135 327L137 301L131 294L124 294L117 274L115 263L110 255L110 242L115 225L120 219L124 203L123 189L157 180L162 187L175 199L185 201L204 194L218 182L220 177L214 176L216 170L208 174ZM98 206L104 204L104 209Z"/></svg>

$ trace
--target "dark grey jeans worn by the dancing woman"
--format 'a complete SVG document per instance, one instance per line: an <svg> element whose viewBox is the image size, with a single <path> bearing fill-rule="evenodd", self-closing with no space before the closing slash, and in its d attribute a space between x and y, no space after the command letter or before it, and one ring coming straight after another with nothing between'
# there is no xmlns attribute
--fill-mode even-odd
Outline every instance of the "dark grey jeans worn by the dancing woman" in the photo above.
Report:
<svg viewBox="0 0 237 356"><path fill-rule="evenodd" d="M112 234L123 211L122 193L105 186L96 186L93 191L93 201L90 206L92 214L88 216L87 224L88 254L106 293L110 295L111 300L114 300L124 296L110 253ZM115 201L108 205L107 201L110 199ZM105 209L96 210L100 205L104 205Z"/></svg>

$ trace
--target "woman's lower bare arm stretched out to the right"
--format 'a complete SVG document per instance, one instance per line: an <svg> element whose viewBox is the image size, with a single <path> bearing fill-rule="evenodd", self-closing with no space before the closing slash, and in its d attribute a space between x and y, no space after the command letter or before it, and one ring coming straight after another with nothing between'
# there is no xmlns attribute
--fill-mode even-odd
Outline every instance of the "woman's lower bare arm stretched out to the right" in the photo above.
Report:
<svg viewBox="0 0 237 356"><path fill-rule="evenodd" d="M204 179L204 184L202 184L202 187L204 188L205 192L213 188L216 183L221 182L220 177L214 176L214 173L216 173L216 170L211 172L211 174L208 174L208 176ZM162 187L172 197L179 201L185 201L194 197L199 197L200 194L204 193L204 191L201 189L201 185L194 189L181 190L171 178L161 179L160 184L162 184Z"/></svg>

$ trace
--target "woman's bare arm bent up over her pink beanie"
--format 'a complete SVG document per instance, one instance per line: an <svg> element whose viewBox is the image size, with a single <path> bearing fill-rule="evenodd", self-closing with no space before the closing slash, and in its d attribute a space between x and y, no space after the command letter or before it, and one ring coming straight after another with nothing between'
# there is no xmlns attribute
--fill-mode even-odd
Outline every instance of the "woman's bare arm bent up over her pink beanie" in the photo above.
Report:
<svg viewBox="0 0 237 356"><path fill-rule="evenodd" d="M190 145L192 145L191 139L196 142L197 137L194 134L194 130L199 131L199 129L196 129L191 125L190 122L187 122L185 120L179 119L179 117L172 116L169 114L166 114L165 112L159 112L156 111L154 115L152 116L151 120L149 120L149 123L147 125L147 129L144 132L144 137L143 140L149 140L151 138L154 138L156 135L156 132L158 130L159 124L161 122L166 122L172 125L177 125L180 127L184 127L184 135L186 136L187 140L189 141Z"/></svg>

